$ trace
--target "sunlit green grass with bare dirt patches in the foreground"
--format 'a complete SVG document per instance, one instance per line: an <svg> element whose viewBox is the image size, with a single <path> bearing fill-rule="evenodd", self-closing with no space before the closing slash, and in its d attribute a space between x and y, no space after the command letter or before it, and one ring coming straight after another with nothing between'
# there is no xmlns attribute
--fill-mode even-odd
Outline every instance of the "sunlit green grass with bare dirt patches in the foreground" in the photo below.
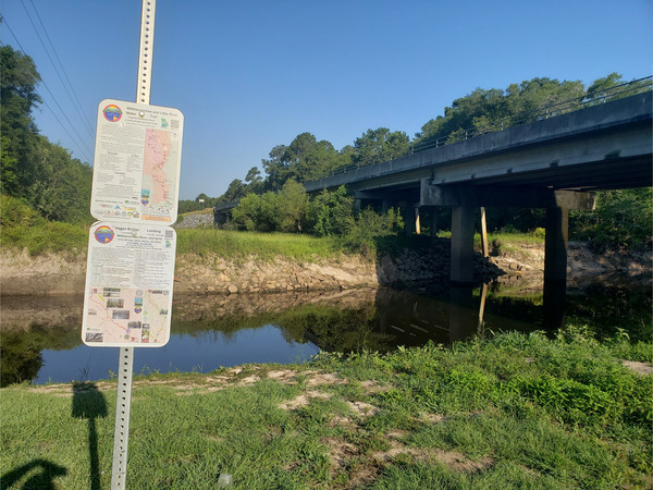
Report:
<svg viewBox="0 0 653 490"><path fill-rule="evenodd" d="M136 377L128 488L650 488L651 344L506 333ZM115 381L0 390L1 488L109 488ZM48 487L52 485L53 487Z"/></svg>

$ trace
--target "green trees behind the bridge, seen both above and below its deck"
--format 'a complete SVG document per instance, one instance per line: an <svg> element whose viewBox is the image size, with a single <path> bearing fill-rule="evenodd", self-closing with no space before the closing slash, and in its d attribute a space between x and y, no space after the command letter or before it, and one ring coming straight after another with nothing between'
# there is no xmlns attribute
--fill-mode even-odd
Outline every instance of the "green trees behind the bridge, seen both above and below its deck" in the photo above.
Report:
<svg viewBox="0 0 653 490"><path fill-rule="evenodd" d="M353 145L337 150L330 142L318 140L311 133L301 133L288 145L272 148L269 158L261 162L264 176L259 168L252 167L244 181L234 180L222 196L213 199L201 196L211 206L239 200L230 226L241 230L304 232L320 236L382 234L385 233L383 230L403 226L396 210L391 211L387 222L381 216L373 219L371 209L361 213L354 208L354 198L344 188L325 191L310 200L301 183L329 176L345 167L392 160L435 142L455 143L469 134L534 122L542 117L577 110L581 105L601 103L606 98L616 99L651 89L650 81L631 83L627 90L619 88L623 84L621 75L611 73L587 88L579 81L559 82L546 77L510 84L505 90L477 88L454 100L444 109L444 115L424 123L412 139L402 131L370 128ZM587 240L596 248L650 243L651 194L651 187L599 193L596 211L572 212L574 237ZM443 229L446 229L449 210L432 212L442 215L440 222L445 223ZM490 230L531 231L544 226L544 211L493 209L488 225Z"/></svg>

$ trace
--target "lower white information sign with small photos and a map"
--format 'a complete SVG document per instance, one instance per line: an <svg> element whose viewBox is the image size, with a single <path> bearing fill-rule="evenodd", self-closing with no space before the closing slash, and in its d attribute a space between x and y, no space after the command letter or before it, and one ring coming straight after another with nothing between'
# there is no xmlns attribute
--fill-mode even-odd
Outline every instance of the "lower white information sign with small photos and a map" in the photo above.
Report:
<svg viewBox="0 0 653 490"><path fill-rule="evenodd" d="M95 347L160 347L170 339L176 234L169 226L90 228L82 341Z"/></svg>

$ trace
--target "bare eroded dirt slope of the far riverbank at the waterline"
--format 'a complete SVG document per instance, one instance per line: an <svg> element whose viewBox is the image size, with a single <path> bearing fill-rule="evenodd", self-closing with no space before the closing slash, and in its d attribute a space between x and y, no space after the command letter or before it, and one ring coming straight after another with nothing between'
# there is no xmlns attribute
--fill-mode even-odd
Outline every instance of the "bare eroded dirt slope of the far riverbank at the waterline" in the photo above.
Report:
<svg viewBox="0 0 653 490"><path fill-rule="evenodd" d="M177 254L175 293L266 293L283 291L326 291L387 285L423 287L448 282L448 240L440 238L428 247L404 248L375 260L340 254L332 258L306 260L284 256L256 255L224 258L218 252ZM475 278L480 282L497 280L522 290L539 290L544 269L542 244L517 244L484 259L475 256ZM601 278L651 282L650 253L592 253L584 244L570 243L568 286ZM83 254L44 254L26 250L0 253L0 293L2 295L78 295L84 292L86 258ZM609 277L613 277L613 280Z"/></svg>

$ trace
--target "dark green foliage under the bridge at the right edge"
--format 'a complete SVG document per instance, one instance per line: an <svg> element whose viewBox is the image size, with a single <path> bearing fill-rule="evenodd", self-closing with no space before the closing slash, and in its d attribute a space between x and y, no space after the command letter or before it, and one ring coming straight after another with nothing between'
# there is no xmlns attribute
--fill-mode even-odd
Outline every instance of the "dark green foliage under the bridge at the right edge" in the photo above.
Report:
<svg viewBox="0 0 653 490"><path fill-rule="evenodd" d="M572 212L570 231L597 252L651 247L653 187L599 193L596 210Z"/></svg>

